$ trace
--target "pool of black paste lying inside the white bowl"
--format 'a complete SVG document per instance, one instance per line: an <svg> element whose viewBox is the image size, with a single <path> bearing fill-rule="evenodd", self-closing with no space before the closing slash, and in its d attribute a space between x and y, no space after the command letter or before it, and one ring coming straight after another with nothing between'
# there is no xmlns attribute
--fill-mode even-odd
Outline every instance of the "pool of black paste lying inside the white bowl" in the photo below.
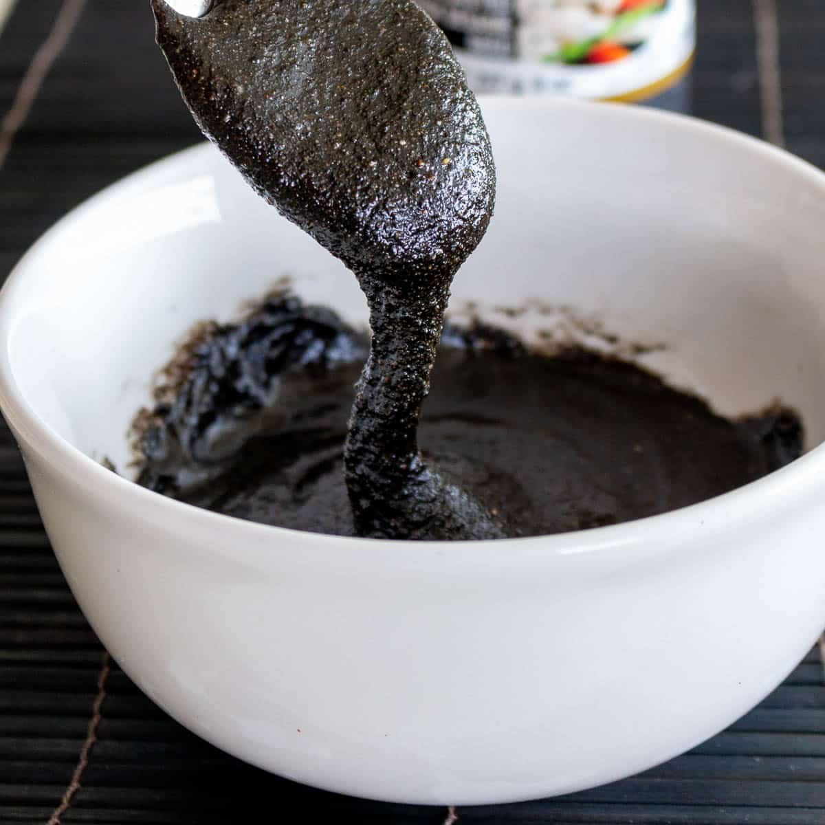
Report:
<svg viewBox="0 0 825 825"><path fill-rule="evenodd" d="M358 535L344 460L368 350L336 314L288 296L202 328L135 422L139 482L263 524ZM802 450L787 410L728 421L634 365L537 355L478 323L448 324L418 437L425 463L507 536L685 507Z"/></svg>

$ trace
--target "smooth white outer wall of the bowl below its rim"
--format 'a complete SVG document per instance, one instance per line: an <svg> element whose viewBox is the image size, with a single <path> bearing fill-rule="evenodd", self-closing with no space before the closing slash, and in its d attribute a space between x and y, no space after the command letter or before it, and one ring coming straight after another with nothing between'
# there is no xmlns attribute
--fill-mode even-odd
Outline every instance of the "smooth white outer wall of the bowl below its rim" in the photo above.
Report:
<svg viewBox="0 0 825 825"><path fill-rule="evenodd" d="M823 623L805 496L747 529L719 508L699 539L639 522L613 547L604 531L582 553L491 559L238 535L27 464L68 582L137 684L238 757L357 796L483 804L643 770L761 700Z"/></svg>

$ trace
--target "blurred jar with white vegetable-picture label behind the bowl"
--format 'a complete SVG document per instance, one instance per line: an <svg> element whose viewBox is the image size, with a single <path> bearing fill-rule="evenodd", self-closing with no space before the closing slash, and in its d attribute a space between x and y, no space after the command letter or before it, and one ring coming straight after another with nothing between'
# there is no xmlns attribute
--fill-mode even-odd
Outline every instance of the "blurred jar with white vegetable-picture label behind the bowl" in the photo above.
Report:
<svg viewBox="0 0 825 825"><path fill-rule="evenodd" d="M695 0L418 0L476 92L691 107Z"/></svg>

